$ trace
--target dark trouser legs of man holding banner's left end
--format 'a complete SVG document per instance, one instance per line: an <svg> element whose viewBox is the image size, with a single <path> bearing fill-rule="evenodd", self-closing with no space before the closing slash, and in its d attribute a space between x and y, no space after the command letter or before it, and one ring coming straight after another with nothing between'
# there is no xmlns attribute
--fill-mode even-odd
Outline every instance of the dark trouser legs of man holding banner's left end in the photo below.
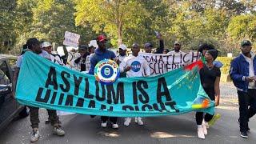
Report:
<svg viewBox="0 0 256 144"><path fill-rule="evenodd" d="M38 107L33 107L33 106L29 106L30 108L30 122L31 122L31 127L34 128L38 128L38 124L39 124L39 115L38 115ZM48 115L49 115L49 120L52 126L58 124L58 116L56 113L56 110L47 110Z"/></svg>

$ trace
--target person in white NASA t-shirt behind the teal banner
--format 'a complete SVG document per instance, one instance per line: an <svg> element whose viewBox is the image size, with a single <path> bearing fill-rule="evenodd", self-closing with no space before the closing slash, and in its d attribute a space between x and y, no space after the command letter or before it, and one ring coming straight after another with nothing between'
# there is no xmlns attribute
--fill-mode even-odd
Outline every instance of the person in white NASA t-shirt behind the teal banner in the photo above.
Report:
<svg viewBox="0 0 256 144"><path fill-rule="evenodd" d="M126 72L127 78L150 76L150 67L146 64L146 60L138 55L140 47L137 43L133 44L131 51L132 54L124 58L119 66L121 73ZM124 125L129 126L130 121L131 118L126 118ZM136 117L135 122L143 125L141 117Z"/></svg>

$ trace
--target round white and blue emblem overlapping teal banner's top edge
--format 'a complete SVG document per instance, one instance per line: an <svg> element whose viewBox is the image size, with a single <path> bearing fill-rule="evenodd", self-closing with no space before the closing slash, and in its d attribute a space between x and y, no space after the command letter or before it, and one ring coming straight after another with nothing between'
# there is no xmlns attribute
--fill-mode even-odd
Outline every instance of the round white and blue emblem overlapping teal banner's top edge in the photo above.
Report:
<svg viewBox="0 0 256 144"><path fill-rule="evenodd" d="M110 59L104 59L98 62L94 68L96 80L106 85L114 83L119 78L119 74L118 64Z"/></svg>

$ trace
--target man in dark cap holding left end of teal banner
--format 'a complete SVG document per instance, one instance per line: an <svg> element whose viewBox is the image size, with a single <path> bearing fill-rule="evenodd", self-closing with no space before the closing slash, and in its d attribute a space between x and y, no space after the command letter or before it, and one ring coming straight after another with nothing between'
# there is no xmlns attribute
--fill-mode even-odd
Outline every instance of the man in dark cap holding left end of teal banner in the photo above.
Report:
<svg viewBox="0 0 256 144"><path fill-rule="evenodd" d="M50 54L48 54L46 51L43 51L40 46L40 42L38 41L37 38L30 38L26 42L26 46L29 50L31 50L35 54L39 54L41 57L46 58L48 60L50 59ZM23 59L24 54L22 54L20 57L18 57L17 60L17 67L14 71L14 81L13 81L13 90L14 90L14 97L15 97L15 90L16 90L16 83L18 80L18 74L19 70L22 66L22 59ZM30 75L28 76L30 77ZM39 124L39 118L38 118L38 107L34 106L29 106L30 108L30 122L31 122L31 127L33 129L33 133L31 135L30 141L31 142L36 142L38 141L38 138L40 137L39 135L39 130L38 130L38 124ZM48 110L50 122L52 126L54 126L53 134L57 134L58 136L62 136L65 134L65 131L62 130L62 128L59 126L58 122L58 116L56 114L56 110Z"/></svg>

